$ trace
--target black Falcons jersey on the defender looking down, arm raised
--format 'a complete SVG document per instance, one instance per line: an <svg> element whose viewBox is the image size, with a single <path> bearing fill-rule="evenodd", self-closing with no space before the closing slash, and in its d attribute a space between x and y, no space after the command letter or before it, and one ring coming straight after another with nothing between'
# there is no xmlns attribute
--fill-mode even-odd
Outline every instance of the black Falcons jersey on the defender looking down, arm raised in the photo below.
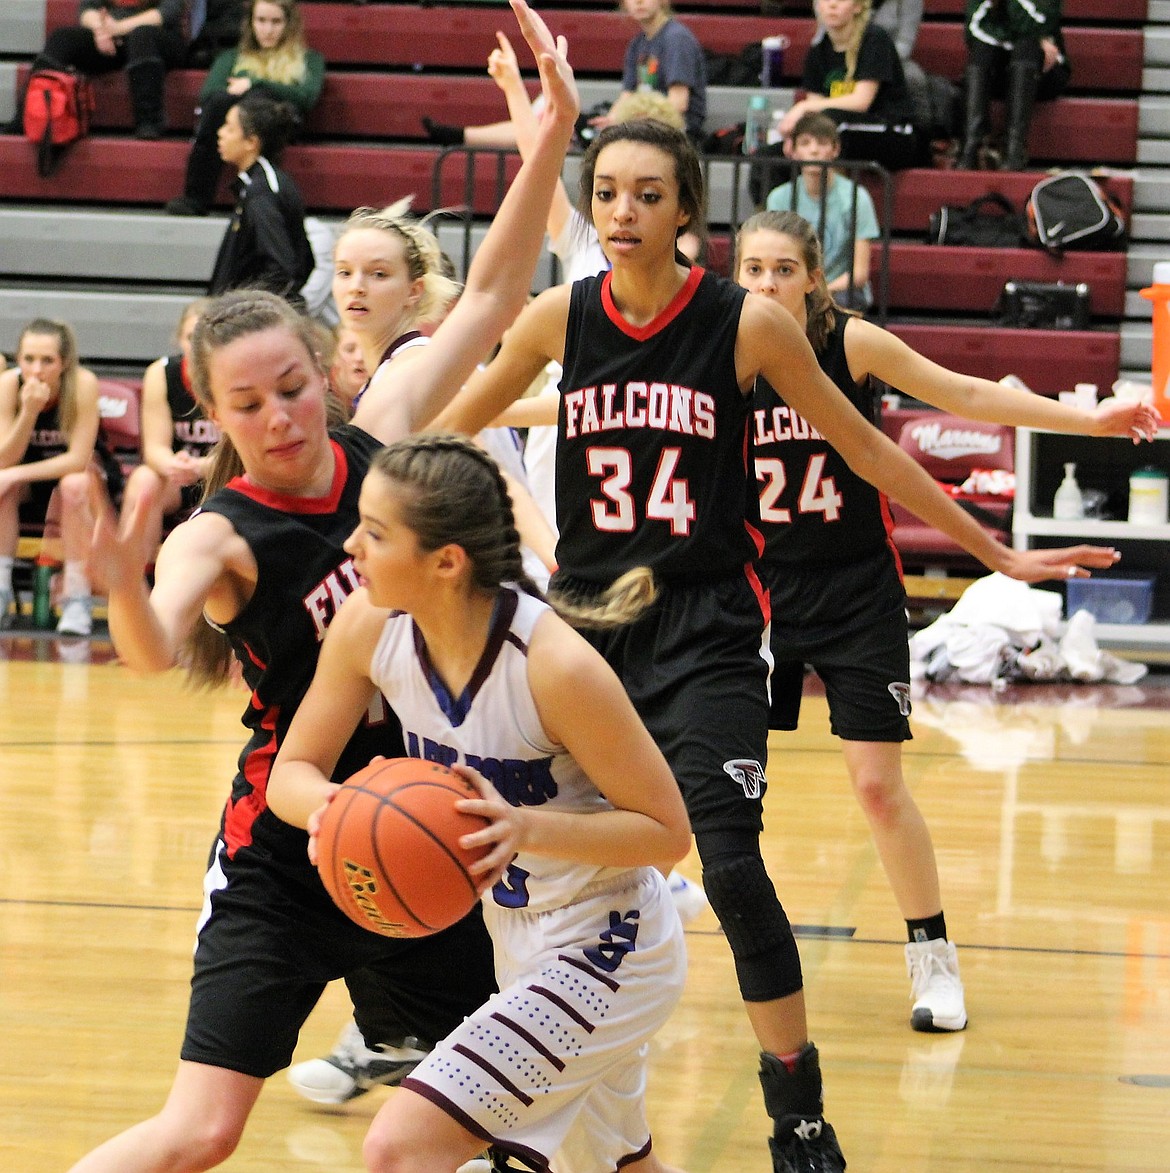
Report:
<svg viewBox="0 0 1170 1173"><path fill-rule="evenodd" d="M239 755L224 813L230 855L253 843L284 859L289 852L293 859L305 853L305 833L268 809L268 779L313 678L325 629L358 585L353 560L341 543L357 524L358 490L371 456L381 447L351 425L338 428L332 439L336 470L327 496L285 496L237 477L203 506L231 522L259 570L248 605L223 629L252 691L242 718L252 734ZM398 718L378 696L341 754L334 778L341 781L377 754L405 753Z"/></svg>

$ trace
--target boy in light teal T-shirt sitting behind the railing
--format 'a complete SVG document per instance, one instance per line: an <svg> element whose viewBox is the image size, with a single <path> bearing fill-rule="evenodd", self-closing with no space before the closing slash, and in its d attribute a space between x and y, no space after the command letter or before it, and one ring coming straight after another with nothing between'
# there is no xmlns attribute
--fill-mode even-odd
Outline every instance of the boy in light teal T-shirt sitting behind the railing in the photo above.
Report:
<svg viewBox="0 0 1170 1173"><path fill-rule="evenodd" d="M829 163L841 149L837 123L819 110L811 110L797 122L790 142L792 158L809 162ZM773 188L765 206L770 211L799 212L818 229L824 244L825 280L838 305L867 310L873 304L870 242L877 240L881 230L865 188L831 167L806 167L796 182Z"/></svg>

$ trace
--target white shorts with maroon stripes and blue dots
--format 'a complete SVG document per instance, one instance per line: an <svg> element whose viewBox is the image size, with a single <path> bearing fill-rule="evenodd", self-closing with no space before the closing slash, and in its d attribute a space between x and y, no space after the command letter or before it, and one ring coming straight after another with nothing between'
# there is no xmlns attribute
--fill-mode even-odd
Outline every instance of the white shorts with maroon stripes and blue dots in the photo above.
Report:
<svg viewBox="0 0 1170 1173"><path fill-rule="evenodd" d="M687 977L662 875L640 868L533 913L485 901L500 992L403 1080L535 1168L613 1173L649 1153L650 1037Z"/></svg>

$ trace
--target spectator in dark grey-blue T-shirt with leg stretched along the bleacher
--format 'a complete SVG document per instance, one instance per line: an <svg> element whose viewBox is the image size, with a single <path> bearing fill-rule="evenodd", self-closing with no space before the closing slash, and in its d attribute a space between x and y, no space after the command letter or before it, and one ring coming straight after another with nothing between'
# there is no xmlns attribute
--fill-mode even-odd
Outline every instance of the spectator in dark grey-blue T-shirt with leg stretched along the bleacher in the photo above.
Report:
<svg viewBox="0 0 1170 1173"><path fill-rule="evenodd" d="M685 25L674 19L670 0L621 0L621 7L630 20L637 22L638 32L625 47L618 99L634 93L665 95L683 116L687 134L699 142L706 121L706 60L702 46ZM611 122L610 114L591 120L594 129ZM431 141L444 147L516 145L510 121L451 127L424 118L422 124Z"/></svg>

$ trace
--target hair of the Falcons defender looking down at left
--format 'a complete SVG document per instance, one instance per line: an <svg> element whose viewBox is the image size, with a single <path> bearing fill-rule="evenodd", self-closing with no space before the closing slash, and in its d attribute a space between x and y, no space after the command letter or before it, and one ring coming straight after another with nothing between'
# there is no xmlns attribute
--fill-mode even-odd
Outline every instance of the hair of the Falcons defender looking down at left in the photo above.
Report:
<svg viewBox="0 0 1170 1173"><path fill-rule="evenodd" d="M317 335L312 323L275 293L234 290L212 298L203 307L191 335L191 389L205 413L214 406L211 355L238 338L275 326L291 331L316 358ZM218 443L211 450L202 500L207 501L243 472L244 466L235 446L226 433L221 433ZM217 685L229 678L234 658L231 643L222 631L209 623L197 623L185 640L182 663L192 683Z"/></svg>

